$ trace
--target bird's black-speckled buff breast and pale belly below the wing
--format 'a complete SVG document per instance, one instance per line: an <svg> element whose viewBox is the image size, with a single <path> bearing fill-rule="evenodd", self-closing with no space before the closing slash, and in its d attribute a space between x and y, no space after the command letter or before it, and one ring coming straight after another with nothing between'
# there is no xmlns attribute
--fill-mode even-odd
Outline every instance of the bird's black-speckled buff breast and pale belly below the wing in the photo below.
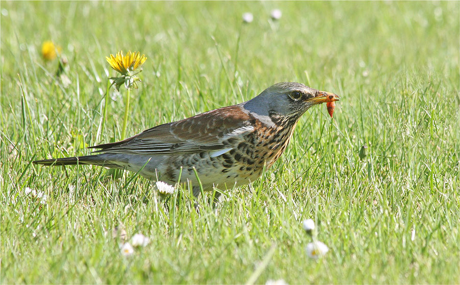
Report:
<svg viewBox="0 0 460 285"><path fill-rule="evenodd" d="M225 146L232 150L217 157L211 157L209 152L172 156L168 159L169 166L161 171L164 174L161 179L177 181L180 175L181 182L189 180L195 184L198 174L205 190L219 185L231 188L255 181L261 176L263 168L270 168L285 151L296 121L296 118L285 118L270 128L258 120L251 120L253 132L242 141L226 141ZM195 169L183 165L194 165Z"/></svg>

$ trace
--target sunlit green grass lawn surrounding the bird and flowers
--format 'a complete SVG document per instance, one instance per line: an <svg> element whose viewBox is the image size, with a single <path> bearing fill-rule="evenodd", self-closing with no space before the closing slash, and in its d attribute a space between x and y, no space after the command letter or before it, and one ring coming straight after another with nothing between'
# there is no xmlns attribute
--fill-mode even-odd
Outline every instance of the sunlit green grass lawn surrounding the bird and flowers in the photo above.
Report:
<svg viewBox="0 0 460 285"><path fill-rule="evenodd" d="M283 17L269 20L279 8ZM2 2L2 283L459 282L458 2ZM243 25L243 12L254 21ZM52 39L68 59L41 58ZM35 159L119 139L105 56L148 57L128 135L250 99L273 83L340 94L310 109L286 153L198 215L188 189ZM359 151L367 145L367 156ZM25 188L48 195L40 204ZM305 253L313 218L324 258ZM129 257L112 229L151 238ZM108 234L106 234L108 233ZM262 260L268 263L262 263Z"/></svg>

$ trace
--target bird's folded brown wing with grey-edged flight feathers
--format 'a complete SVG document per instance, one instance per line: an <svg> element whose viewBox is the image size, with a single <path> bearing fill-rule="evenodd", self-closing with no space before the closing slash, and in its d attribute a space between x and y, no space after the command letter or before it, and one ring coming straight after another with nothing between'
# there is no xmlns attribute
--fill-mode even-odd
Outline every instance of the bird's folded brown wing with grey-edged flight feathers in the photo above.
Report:
<svg viewBox="0 0 460 285"><path fill-rule="evenodd" d="M242 107L229 106L181 121L168 123L117 143L98 145L96 152L129 154L171 154L213 151L228 148L229 139L243 139L254 131L250 116Z"/></svg>

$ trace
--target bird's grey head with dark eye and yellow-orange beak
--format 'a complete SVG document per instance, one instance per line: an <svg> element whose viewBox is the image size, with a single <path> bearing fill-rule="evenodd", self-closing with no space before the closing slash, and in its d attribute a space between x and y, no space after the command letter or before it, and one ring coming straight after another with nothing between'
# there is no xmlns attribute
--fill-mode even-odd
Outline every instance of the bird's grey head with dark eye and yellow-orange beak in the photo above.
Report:
<svg viewBox="0 0 460 285"><path fill-rule="evenodd" d="M336 94L319 91L301 83L281 82L265 89L259 96L242 103L251 113L269 116L271 121L298 120L313 105L338 101Z"/></svg>

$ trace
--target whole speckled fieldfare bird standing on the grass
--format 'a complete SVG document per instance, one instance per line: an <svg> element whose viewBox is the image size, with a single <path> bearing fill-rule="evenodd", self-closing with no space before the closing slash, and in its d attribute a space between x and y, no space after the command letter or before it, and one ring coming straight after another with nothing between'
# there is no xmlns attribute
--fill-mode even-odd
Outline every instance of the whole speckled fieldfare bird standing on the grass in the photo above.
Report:
<svg viewBox="0 0 460 285"><path fill-rule="evenodd" d="M170 184L233 187L255 181L281 156L298 119L311 106L338 101L336 94L282 82L238 105L159 125L116 143L94 147L96 155L34 161L42 165L94 164L126 169ZM180 179L180 181L178 181Z"/></svg>

